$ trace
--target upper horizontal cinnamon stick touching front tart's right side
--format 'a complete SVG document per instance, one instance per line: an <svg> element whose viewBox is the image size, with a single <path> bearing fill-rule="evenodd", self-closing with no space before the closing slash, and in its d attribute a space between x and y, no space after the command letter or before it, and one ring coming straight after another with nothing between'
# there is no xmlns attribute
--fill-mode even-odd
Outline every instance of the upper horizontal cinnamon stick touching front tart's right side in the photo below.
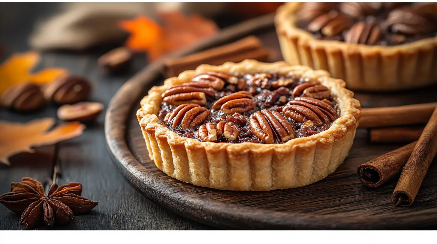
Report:
<svg viewBox="0 0 437 244"><path fill-rule="evenodd" d="M363 108L359 128L426 124L437 102L397 107Z"/></svg>

